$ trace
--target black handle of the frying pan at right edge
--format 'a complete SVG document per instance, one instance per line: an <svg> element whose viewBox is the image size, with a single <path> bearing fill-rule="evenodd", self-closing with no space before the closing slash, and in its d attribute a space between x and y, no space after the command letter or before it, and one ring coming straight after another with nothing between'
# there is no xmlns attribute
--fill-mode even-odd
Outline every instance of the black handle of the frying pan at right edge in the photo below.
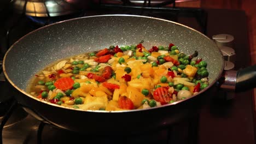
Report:
<svg viewBox="0 0 256 144"><path fill-rule="evenodd" d="M256 65L238 70L236 73L236 92L256 87Z"/></svg>

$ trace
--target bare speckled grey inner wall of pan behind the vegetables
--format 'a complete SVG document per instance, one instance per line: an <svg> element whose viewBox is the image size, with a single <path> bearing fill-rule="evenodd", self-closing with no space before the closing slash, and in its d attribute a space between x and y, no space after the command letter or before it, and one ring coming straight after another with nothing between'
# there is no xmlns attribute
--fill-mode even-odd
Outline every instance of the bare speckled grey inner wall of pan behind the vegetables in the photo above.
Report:
<svg viewBox="0 0 256 144"><path fill-rule="evenodd" d="M177 45L184 53L199 52L208 62L211 81L223 70L223 57L210 39L176 23L138 16L96 16L38 29L15 43L4 58L5 74L25 90L28 80L57 59L95 51L109 45Z"/></svg>

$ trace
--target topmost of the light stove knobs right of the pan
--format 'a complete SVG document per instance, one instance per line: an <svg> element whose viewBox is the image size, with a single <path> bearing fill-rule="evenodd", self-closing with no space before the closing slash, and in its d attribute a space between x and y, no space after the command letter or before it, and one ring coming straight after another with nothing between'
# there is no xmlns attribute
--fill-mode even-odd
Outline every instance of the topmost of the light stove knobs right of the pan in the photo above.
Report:
<svg viewBox="0 0 256 144"><path fill-rule="evenodd" d="M213 35L212 39L215 41L215 43L219 47L220 46L233 47L233 41L234 41L233 35L230 35L230 34L218 34L218 35Z"/></svg>

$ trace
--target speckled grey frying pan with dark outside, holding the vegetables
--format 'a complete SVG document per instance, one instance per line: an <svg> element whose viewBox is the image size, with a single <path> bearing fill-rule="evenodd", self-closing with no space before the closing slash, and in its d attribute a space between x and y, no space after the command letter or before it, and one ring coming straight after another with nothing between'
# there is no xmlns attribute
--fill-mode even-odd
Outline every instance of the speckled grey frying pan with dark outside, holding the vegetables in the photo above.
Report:
<svg viewBox="0 0 256 144"><path fill-rule="evenodd" d="M184 53L199 52L207 61L210 85L193 97L173 104L131 111L82 111L41 101L25 92L31 77L57 59L97 51L109 45L152 46L173 43ZM133 134L159 129L188 117L199 109L201 97L223 76L224 59L214 42L200 32L176 22L136 15L100 15L67 20L33 31L10 47L3 61L4 74L17 92L15 98L32 116L56 127L84 134ZM255 86L255 66L238 71ZM226 75L225 75L226 76ZM223 81L225 83L225 81ZM252 86L251 86L252 87Z"/></svg>

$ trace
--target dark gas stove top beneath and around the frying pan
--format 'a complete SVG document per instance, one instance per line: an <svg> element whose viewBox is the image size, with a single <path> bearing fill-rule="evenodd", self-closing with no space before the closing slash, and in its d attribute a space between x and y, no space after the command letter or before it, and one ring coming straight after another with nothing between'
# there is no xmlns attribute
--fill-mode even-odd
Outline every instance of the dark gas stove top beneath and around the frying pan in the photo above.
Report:
<svg viewBox="0 0 256 144"><path fill-rule="evenodd" d="M234 36L232 49L236 53L234 69L246 67L251 61L246 14L240 10L96 3L79 13L44 18L16 14L11 8L8 10L5 13L8 16L1 16L1 60L16 40L49 23L91 15L131 14L176 21L209 38L217 34L230 34ZM229 99L229 94L215 93L211 88L203 100L200 113L170 127L130 136L88 136L53 127L28 115L16 104L9 92L8 82L4 79L0 82L3 143L254 143L253 91L236 93L234 99Z"/></svg>

